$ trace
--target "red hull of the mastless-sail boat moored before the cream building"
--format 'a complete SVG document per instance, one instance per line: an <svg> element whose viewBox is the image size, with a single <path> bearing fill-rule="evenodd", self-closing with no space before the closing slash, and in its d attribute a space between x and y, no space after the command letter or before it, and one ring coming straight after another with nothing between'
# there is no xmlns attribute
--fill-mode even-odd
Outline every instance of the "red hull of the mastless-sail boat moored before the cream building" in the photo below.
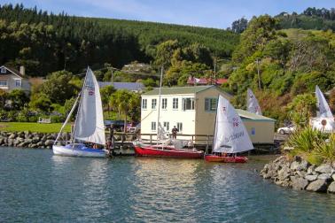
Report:
<svg viewBox="0 0 335 223"><path fill-rule="evenodd" d="M176 149L167 145L139 145L134 144L135 153L141 157L158 158L203 158L204 151Z"/></svg>

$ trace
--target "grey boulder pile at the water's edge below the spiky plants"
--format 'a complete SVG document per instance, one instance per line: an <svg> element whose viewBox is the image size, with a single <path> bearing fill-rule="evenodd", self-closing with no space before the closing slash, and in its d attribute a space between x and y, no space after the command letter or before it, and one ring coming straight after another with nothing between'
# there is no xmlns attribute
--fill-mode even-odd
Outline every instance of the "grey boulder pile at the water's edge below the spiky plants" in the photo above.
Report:
<svg viewBox="0 0 335 223"><path fill-rule="evenodd" d="M261 176L284 187L335 193L335 163L316 166L298 156L281 156L264 165Z"/></svg>

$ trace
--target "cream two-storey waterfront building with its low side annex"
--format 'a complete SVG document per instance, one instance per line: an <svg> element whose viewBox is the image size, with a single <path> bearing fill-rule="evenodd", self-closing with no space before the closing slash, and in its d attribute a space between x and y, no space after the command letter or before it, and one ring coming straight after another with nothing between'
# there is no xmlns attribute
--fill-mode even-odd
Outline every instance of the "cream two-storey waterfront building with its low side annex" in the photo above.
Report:
<svg viewBox="0 0 335 223"><path fill-rule="evenodd" d="M175 126L178 134L199 135L193 138L196 142L206 143L207 135L214 135L217 98L219 95L227 99L232 96L214 85L154 88L142 94L141 134L142 138L156 137L158 129L158 106L160 97L160 127L171 133ZM245 127L254 143L273 143L275 120L248 111L237 110L245 123ZM190 136L177 136L190 139Z"/></svg>

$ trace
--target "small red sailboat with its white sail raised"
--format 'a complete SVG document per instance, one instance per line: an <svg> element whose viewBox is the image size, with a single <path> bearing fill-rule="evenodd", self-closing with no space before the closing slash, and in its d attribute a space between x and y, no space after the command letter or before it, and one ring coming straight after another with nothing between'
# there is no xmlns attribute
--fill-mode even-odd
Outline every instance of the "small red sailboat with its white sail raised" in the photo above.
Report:
<svg viewBox="0 0 335 223"><path fill-rule="evenodd" d="M223 96L219 96L216 109L213 154L205 156L209 162L245 163L247 158L234 156L238 152L253 150L253 143L246 132L238 112Z"/></svg>

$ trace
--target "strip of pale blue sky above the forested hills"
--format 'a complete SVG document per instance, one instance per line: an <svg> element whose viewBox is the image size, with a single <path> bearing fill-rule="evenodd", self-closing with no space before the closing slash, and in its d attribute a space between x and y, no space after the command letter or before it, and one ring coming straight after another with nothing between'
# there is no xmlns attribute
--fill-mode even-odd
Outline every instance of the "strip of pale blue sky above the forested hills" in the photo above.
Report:
<svg viewBox="0 0 335 223"><path fill-rule="evenodd" d="M335 8L335 0L0 0L0 4L37 6L48 12L112 19L227 28L253 15L303 12L308 7Z"/></svg>

